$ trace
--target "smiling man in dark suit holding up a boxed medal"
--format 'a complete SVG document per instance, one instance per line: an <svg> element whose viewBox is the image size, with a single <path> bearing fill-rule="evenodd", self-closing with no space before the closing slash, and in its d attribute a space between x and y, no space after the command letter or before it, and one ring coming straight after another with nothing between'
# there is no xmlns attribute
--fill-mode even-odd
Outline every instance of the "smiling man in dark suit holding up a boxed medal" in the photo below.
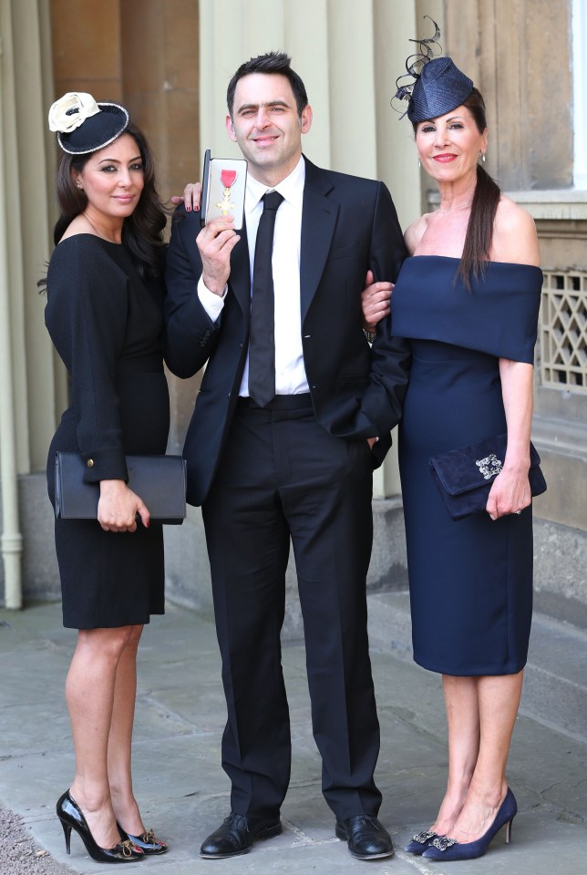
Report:
<svg viewBox="0 0 587 875"><path fill-rule="evenodd" d="M302 156L312 109L289 57L252 58L227 98L229 137L248 160L246 228L217 219L200 232L199 215L180 211L167 271L166 360L183 377L207 364L184 456L188 500L202 505L228 707L222 766L232 812L201 856L241 854L282 829L291 742L280 632L291 538L324 798L355 857L388 857L391 839L376 818L366 573L372 471L400 417L409 359L388 325L369 346L361 293L367 271L395 281L403 238L383 183ZM257 291L255 240L261 246L261 215L275 209L263 196L273 190L281 203L264 283L273 286L272 324L252 330L255 301L261 308L268 291ZM267 380L257 388L260 335L265 346L274 335L268 396Z"/></svg>

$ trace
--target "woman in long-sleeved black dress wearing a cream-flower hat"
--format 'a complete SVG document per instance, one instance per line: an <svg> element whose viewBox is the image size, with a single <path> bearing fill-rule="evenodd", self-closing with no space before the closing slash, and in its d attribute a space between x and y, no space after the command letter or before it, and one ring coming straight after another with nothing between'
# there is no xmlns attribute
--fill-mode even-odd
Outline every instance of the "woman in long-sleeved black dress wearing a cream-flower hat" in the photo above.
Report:
<svg viewBox="0 0 587 875"><path fill-rule="evenodd" d="M167 850L133 795L130 746L143 624L164 612L163 537L127 486L126 454L162 454L169 395L160 345L166 223L153 162L129 113L69 93L49 112L62 149L61 215L46 276L46 327L70 379L51 442L75 451L99 483L98 520L56 520L64 625L78 630L67 674L76 775L57 802L94 860L132 862Z"/></svg>

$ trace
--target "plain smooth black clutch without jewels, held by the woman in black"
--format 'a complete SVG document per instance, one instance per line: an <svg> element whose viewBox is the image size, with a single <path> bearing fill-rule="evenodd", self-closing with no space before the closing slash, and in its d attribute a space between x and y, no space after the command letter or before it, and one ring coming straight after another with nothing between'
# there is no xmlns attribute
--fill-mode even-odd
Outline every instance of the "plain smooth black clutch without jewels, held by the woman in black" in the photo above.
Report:
<svg viewBox="0 0 587 875"><path fill-rule="evenodd" d="M150 521L180 525L185 520L186 461L180 456L127 456L129 488L145 502ZM96 520L99 483L86 483L79 453L55 456L55 515L61 520Z"/></svg>

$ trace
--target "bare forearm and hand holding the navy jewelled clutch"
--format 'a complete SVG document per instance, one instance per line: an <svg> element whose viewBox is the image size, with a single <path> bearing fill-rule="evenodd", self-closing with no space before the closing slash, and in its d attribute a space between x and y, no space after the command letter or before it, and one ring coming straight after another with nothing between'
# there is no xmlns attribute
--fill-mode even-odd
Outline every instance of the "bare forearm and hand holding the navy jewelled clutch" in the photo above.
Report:
<svg viewBox="0 0 587 875"><path fill-rule="evenodd" d="M486 510L492 520L530 505L530 427L532 365L499 359L501 394L506 412L508 449L503 468L493 481Z"/></svg>

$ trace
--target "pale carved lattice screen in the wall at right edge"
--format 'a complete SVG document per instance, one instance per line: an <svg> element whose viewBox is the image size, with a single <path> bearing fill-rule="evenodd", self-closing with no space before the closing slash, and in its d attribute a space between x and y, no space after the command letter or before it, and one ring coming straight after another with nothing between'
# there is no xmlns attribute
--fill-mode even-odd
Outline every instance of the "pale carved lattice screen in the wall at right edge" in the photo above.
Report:
<svg viewBox="0 0 587 875"><path fill-rule="evenodd" d="M587 273L544 272L541 385L587 394Z"/></svg>

